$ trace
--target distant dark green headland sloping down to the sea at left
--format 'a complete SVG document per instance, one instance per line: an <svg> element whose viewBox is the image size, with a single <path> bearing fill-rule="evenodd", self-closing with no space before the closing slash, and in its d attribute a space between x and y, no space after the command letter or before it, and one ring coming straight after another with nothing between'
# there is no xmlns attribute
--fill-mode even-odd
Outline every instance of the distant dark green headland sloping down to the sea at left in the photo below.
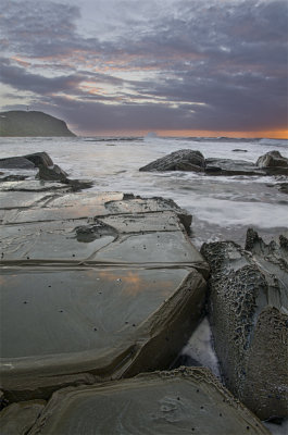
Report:
<svg viewBox="0 0 288 435"><path fill-rule="evenodd" d="M64 121L43 112L0 112L0 136L75 136Z"/></svg>

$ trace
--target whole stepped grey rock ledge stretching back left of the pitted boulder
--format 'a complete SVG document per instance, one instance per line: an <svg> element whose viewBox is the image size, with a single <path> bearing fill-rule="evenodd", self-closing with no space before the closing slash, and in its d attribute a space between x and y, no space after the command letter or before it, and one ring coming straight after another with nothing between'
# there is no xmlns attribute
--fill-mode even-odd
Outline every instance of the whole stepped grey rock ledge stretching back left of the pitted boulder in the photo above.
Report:
<svg viewBox="0 0 288 435"><path fill-rule="evenodd" d="M4 397L168 368L205 296L191 216L161 198L35 183L0 186Z"/></svg>

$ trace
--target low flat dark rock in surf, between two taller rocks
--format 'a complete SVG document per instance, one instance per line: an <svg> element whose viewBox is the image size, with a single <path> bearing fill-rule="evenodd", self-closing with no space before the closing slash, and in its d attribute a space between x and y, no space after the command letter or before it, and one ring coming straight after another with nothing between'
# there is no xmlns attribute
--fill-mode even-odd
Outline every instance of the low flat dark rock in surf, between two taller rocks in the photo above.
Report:
<svg viewBox="0 0 288 435"><path fill-rule="evenodd" d="M214 175L265 175L253 163L245 160L206 159L205 172Z"/></svg>

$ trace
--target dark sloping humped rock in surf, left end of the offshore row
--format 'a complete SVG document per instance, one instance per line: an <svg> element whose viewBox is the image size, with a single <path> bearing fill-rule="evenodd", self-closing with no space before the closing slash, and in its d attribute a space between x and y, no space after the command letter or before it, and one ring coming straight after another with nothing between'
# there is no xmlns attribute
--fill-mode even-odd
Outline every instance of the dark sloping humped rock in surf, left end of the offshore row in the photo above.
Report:
<svg viewBox="0 0 288 435"><path fill-rule="evenodd" d="M200 151L179 150L158 159L139 171L193 171L203 172L205 159Z"/></svg>

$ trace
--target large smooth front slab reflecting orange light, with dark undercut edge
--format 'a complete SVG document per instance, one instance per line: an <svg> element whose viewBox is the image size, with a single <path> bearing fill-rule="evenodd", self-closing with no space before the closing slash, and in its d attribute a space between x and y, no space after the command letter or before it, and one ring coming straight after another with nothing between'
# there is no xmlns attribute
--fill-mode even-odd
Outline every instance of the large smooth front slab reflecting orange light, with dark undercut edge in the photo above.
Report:
<svg viewBox="0 0 288 435"><path fill-rule="evenodd" d="M53 376L167 366L205 290L195 270L164 268L5 268L1 284L2 389L16 398L45 398Z"/></svg>

